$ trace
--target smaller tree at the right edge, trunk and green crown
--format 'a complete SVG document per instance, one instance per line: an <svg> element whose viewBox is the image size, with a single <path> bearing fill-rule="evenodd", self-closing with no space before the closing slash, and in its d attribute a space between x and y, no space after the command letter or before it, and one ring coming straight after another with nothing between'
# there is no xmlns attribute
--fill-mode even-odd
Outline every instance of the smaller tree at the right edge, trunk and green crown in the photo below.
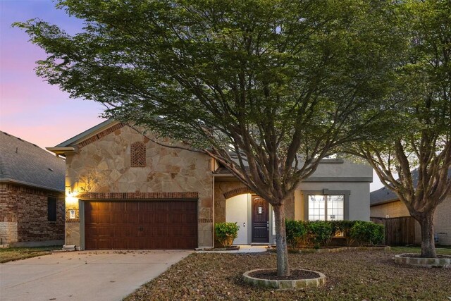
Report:
<svg viewBox="0 0 451 301"><path fill-rule="evenodd" d="M436 257L433 216L451 191L450 11L450 1L402 1L399 28L409 44L394 82L390 132L352 152L419 221L421 257Z"/></svg>

